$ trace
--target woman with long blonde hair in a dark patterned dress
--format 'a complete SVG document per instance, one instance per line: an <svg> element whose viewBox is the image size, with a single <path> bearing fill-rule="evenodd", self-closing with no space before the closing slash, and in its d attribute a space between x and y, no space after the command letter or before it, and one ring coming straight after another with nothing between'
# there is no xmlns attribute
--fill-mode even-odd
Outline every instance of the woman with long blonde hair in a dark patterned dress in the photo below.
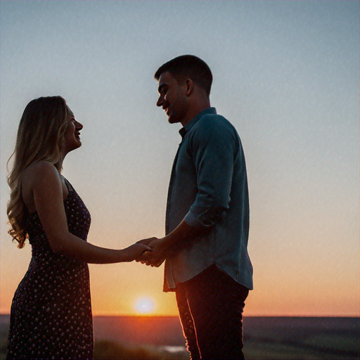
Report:
<svg viewBox="0 0 360 360"><path fill-rule="evenodd" d="M37 98L23 113L8 176L13 239L28 238L32 259L11 306L7 359L92 359L93 328L87 263L131 262L151 250L86 242L90 214L60 173L82 145L82 124L60 96Z"/></svg>

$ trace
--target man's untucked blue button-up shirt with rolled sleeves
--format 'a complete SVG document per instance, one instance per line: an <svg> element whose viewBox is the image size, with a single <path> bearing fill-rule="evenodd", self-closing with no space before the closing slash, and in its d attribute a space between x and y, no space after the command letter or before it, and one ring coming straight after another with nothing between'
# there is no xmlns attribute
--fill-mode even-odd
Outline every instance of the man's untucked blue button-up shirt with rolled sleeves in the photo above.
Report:
<svg viewBox="0 0 360 360"><path fill-rule="evenodd" d="M248 180L238 133L214 108L203 110L179 132L182 141L170 178L166 233L183 219L204 231L167 257L164 290L174 290L177 283L212 264L252 289Z"/></svg>

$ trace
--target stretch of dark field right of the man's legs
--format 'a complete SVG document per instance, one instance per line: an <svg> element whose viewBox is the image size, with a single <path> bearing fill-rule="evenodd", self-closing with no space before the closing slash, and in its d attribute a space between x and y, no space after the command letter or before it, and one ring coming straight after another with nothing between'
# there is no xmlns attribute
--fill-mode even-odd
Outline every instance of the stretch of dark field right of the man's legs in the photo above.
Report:
<svg viewBox="0 0 360 360"><path fill-rule="evenodd" d="M359 359L358 318L245 319L248 359Z"/></svg>

